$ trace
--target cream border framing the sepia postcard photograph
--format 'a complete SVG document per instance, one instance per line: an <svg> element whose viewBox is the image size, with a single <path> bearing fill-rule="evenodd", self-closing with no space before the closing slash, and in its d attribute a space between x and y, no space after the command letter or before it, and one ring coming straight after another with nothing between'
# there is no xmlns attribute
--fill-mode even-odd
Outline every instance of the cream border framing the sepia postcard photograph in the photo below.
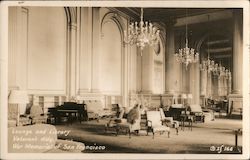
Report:
<svg viewBox="0 0 250 160"><path fill-rule="evenodd" d="M1 104L1 155L3 159L248 159L249 158L249 1L2 1L0 2L0 104ZM166 8L243 8L243 154L67 154L67 153L7 153L7 107L8 106L8 7L9 6L82 6L82 7L166 7Z"/></svg>

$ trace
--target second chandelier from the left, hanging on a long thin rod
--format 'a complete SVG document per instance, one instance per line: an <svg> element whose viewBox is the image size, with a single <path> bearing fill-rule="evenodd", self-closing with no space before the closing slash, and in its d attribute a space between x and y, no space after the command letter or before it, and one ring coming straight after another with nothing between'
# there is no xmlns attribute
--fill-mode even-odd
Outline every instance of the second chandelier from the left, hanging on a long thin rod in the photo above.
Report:
<svg viewBox="0 0 250 160"><path fill-rule="evenodd" d="M193 48L188 47L188 27L187 27L187 9L186 9L186 37L185 37L185 48L179 49L175 53L175 58L178 62L184 63L186 69L190 63L196 63L199 60L199 53L195 53Z"/></svg>

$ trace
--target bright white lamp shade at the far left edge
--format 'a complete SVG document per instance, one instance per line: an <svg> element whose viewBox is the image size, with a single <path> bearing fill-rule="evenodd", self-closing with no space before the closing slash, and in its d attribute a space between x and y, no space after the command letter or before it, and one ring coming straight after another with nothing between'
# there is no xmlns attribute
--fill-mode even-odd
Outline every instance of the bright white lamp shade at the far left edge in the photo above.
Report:
<svg viewBox="0 0 250 160"><path fill-rule="evenodd" d="M10 104L27 104L29 103L28 94L24 90L12 90L9 96Z"/></svg>

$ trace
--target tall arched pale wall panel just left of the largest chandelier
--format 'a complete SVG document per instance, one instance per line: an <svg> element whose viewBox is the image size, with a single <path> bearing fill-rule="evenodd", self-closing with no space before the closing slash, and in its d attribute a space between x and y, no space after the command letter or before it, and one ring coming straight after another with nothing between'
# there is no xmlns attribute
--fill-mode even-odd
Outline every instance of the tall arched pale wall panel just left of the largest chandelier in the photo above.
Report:
<svg viewBox="0 0 250 160"><path fill-rule="evenodd" d="M121 94L122 41L117 24L106 21L102 26L100 52L100 85L106 94Z"/></svg>

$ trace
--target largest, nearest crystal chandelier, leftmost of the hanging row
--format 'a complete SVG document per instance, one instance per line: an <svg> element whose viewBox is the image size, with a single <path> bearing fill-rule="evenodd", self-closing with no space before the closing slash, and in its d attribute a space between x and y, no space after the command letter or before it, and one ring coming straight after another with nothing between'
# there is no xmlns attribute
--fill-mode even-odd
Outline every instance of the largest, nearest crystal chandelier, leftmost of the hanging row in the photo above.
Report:
<svg viewBox="0 0 250 160"><path fill-rule="evenodd" d="M128 32L124 31L124 42L130 45L136 44L142 50L146 45L155 45L159 41L160 30L153 26L152 23L143 21L143 8L141 8L140 22L131 23Z"/></svg>

